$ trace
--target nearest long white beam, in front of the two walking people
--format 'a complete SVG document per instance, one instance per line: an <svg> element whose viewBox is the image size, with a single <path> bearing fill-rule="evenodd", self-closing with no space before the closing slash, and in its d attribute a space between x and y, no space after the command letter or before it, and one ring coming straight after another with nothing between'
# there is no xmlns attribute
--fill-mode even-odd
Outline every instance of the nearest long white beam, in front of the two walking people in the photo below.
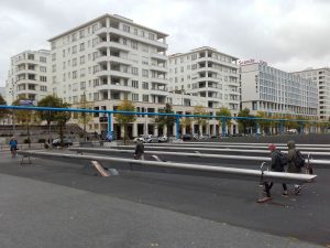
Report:
<svg viewBox="0 0 330 248"><path fill-rule="evenodd" d="M280 182L287 184L304 184L312 182L317 175L308 174L296 174L296 173L285 173L285 172L271 172L271 171L260 171L260 170L249 170L249 169L238 169L238 168L223 168L223 166L210 166L204 164L188 164L188 163L172 163L172 162L160 162L160 161L144 161L144 160L133 160L123 159L114 157L99 157L99 155L79 155L79 154L66 154L66 153L55 153L55 152L41 152L41 151L18 151L19 154L25 157L35 157L43 159L67 159L73 160L75 163L79 163L81 160L87 161L102 161L102 162L124 162L131 165L142 166L142 168L157 168L165 169L164 172L177 173L177 174L194 174L199 176L211 176L211 177L234 177L241 180L252 180L252 181L272 181ZM80 162L81 163L81 162ZM111 166L119 169L120 165L113 163Z"/></svg>

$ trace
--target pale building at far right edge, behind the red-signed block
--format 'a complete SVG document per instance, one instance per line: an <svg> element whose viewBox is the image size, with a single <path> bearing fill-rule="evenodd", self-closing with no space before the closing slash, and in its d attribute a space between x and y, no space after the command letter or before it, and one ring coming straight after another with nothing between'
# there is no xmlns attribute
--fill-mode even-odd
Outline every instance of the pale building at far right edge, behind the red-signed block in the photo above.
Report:
<svg viewBox="0 0 330 248"><path fill-rule="evenodd" d="M330 68L307 68L305 71L295 72L293 74L298 75L302 78L310 79L317 84L319 89L319 120L330 120Z"/></svg>

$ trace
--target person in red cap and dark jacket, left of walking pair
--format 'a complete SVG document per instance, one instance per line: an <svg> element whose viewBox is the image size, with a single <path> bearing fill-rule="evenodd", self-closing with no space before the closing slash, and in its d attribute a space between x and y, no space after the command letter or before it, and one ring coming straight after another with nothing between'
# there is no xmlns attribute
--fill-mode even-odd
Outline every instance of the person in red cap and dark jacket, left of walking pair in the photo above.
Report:
<svg viewBox="0 0 330 248"><path fill-rule="evenodd" d="M284 166L287 164L285 155L279 150L277 150L276 145L273 143L268 145L268 150L271 151L271 158L272 158L271 171L284 172L285 171ZM257 200L258 203L264 203L264 202L272 200L271 190L272 190L273 185L274 185L273 182L271 182L271 183L264 182L264 188L265 188L264 191L266 193L266 196ZM287 186L285 183L283 183L282 186L283 186L282 195L286 196L287 195Z"/></svg>

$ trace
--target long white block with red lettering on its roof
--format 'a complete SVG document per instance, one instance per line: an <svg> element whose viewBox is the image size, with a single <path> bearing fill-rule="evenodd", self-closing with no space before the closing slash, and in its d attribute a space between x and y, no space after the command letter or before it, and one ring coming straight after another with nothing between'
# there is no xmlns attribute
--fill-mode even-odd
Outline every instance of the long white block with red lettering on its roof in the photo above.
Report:
<svg viewBox="0 0 330 248"><path fill-rule="evenodd" d="M317 83L273 68L265 62L241 64L242 108L251 114L318 117Z"/></svg>

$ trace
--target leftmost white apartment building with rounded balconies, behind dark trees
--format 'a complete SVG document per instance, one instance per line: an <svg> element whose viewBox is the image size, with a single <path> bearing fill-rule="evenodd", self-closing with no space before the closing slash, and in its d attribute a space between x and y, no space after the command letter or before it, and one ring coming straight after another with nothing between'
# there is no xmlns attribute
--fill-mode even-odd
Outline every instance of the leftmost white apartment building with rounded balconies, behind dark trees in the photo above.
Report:
<svg viewBox="0 0 330 248"><path fill-rule="evenodd" d="M50 51L25 51L11 57L11 67L6 82L7 104L19 97L40 100L50 94Z"/></svg>

